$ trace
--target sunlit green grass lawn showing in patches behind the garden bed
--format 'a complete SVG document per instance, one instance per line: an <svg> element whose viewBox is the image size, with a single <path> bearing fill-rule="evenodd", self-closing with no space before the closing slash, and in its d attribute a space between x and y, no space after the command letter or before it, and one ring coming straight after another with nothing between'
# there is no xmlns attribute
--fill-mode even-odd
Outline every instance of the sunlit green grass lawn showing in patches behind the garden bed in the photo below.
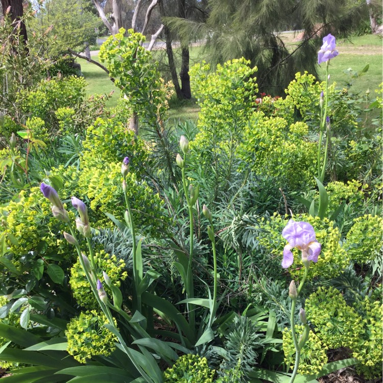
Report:
<svg viewBox="0 0 383 383"><path fill-rule="evenodd" d="M289 34L282 37L286 42L293 46L297 44L294 41L294 35ZM330 76L331 81L336 82L339 87L344 87L346 82L352 82L351 91L365 92L367 89L371 92L371 97L374 97L374 90L382 82L382 39L374 35L366 35L352 37L350 40L337 41L339 56L330 61ZM179 55L179 49L174 49L175 56ZM156 52L154 51L156 56ZM193 46L190 48L190 66L197 62L206 59L207 56L203 52L203 47ZM98 56L92 56L93 60L98 61ZM77 60L81 64L82 73L89 83L87 93L107 93L114 90L114 94L107 102L107 107L112 108L117 104L119 99L119 90L109 80L108 75L98 66L88 63L85 60ZM362 69L369 64L369 69L366 74L356 79L351 79L348 74L343 71L352 68L360 73ZM321 78L325 78L326 65L322 64L319 67ZM183 103L174 103L171 106L169 113L170 119L185 121L186 119L198 118L198 106L190 101Z"/></svg>

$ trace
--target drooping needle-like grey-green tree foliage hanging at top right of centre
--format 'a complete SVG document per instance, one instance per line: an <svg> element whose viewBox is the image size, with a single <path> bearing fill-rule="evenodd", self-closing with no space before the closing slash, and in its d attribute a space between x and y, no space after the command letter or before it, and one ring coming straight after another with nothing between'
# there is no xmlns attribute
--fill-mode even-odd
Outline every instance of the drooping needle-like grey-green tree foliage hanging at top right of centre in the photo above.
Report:
<svg viewBox="0 0 383 383"><path fill-rule="evenodd" d="M184 41L198 35L207 39L212 64L245 57L258 67L261 91L281 94L297 71L317 75L320 37L338 38L364 14L366 5L348 0L210 0L206 22L167 19ZM278 36L286 30L304 30L293 49Z"/></svg>

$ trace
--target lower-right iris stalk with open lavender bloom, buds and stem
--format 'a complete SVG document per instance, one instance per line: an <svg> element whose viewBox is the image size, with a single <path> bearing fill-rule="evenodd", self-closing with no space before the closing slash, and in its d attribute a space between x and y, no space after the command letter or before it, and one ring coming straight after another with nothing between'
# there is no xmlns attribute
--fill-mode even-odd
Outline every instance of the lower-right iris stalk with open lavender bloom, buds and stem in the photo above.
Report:
<svg viewBox="0 0 383 383"><path fill-rule="evenodd" d="M304 324L304 331L301 339L298 340L295 332L295 306L300 292L302 291L304 282L307 278L308 269L311 262L317 262L319 253L321 252L321 244L316 240L316 235L313 226L307 222L296 222L290 220L285 228L282 230L282 236L288 241L288 244L283 249L282 267L289 268L294 263L294 255L292 249L296 248L302 253L302 262L304 265L303 278L296 288L295 281L291 281L289 288L289 296L292 299L290 325L295 347L295 365L293 374L290 378L290 383L293 383L298 372L300 355L304 344L308 339L309 327L305 320L304 312L301 313L300 318Z"/></svg>

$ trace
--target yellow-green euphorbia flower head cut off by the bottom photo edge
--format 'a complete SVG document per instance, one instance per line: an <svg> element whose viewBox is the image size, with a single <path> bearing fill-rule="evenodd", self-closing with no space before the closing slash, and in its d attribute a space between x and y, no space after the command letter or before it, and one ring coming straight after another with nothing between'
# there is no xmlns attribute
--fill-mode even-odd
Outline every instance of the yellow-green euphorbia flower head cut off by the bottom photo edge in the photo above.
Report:
<svg viewBox="0 0 383 383"><path fill-rule="evenodd" d="M212 383L215 370L210 370L205 357L187 354L180 356L164 373L166 383Z"/></svg>

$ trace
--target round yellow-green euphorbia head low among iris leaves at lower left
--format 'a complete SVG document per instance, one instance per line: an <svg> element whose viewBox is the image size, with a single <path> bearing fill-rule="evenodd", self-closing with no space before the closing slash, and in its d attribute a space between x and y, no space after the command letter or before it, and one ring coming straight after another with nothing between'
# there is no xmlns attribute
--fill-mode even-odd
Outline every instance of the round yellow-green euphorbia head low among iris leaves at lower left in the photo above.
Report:
<svg viewBox="0 0 383 383"><path fill-rule="evenodd" d="M117 338L104 326L105 323L108 323L106 316L95 310L71 319L65 331L68 353L80 363L88 362L92 356L110 355Z"/></svg>

